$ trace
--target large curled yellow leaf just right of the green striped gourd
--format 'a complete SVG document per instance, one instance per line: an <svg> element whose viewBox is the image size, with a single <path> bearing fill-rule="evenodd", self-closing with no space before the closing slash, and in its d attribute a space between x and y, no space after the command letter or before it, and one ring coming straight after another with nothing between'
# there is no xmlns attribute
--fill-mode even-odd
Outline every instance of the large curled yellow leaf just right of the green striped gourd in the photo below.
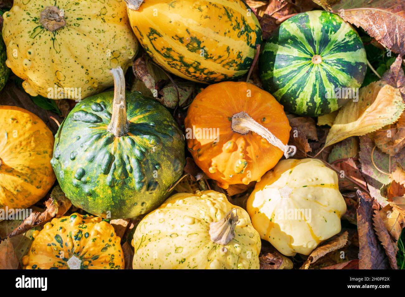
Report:
<svg viewBox="0 0 405 297"><path fill-rule="evenodd" d="M394 123L405 104L398 88L387 82L372 82L360 88L358 101L350 101L339 111L326 137L325 147L350 136L361 136Z"/></svg>

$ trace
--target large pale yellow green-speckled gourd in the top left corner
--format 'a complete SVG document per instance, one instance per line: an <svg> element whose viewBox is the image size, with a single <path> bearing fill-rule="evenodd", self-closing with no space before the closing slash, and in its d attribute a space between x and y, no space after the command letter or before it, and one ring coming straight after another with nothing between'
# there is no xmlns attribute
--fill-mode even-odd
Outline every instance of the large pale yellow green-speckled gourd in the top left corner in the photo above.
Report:
<svg viewBox="0 0 405 297"><path fill-rule="evenodd" d="M3 17L6 65L32 96L61 99L54 86L76 88L67 99L100 93L113 85L109 70L127 70L139 48L120 0L15 0Z"/></svg>

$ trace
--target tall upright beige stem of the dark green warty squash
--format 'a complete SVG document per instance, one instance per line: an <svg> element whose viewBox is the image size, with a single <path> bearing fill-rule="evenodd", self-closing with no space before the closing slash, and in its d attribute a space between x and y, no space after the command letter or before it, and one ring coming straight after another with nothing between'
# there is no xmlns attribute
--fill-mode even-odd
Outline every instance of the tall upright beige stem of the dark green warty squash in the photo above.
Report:
<svg viewBox="0 0 405 297"><path fill-rule="evenodd" d="M111 69L110 72L114 77L114 101L113 113L111 114L111 122L107 130L121 137L128 133L128 120L126 117L125 104L125 78L124 71L121 67Z"/></svg>

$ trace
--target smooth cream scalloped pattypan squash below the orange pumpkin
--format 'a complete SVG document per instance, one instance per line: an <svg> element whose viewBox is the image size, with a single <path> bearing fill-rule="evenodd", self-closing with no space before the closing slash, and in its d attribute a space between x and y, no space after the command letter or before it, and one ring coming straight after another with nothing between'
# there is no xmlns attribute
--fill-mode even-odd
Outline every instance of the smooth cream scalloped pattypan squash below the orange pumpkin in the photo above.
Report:
<svg viewBox="0 0 405 297"><path fill-rule="evenodd" d="M256 183L247 212L280 253L309 255L341 230L346 204L335 171L320 160L281 160Z"/></svg>

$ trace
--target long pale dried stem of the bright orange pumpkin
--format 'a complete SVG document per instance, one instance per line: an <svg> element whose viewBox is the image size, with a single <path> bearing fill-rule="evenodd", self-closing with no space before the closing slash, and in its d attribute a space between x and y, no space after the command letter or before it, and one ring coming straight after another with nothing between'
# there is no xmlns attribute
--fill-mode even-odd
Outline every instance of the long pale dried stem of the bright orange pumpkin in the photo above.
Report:
<svg viewBox="0 0 405 297"><path fill-rule="evenodd" d="M295 155L297 148L294 145L285 145L280 139L275 137L268 129L252 119L246 112L238 112L232 116L232 130L236 133L247 134L250 131L269 141L270 144L278 147L288 159Z"/></svg>

